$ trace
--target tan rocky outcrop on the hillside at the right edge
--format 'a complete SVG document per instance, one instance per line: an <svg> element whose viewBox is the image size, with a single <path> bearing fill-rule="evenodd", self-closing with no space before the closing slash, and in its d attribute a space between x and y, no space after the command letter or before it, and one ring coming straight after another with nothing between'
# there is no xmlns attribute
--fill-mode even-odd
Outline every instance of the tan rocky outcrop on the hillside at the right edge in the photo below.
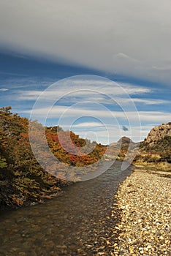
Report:
<svg viewBox="0 0 171 256"><path fill-rule="evenodd" d="M171 122L168 124L161 124L158 127L153 127L151 132L148 133L145 143L148 143L148 146L153 146L166 136L171 136Z"/></svg>

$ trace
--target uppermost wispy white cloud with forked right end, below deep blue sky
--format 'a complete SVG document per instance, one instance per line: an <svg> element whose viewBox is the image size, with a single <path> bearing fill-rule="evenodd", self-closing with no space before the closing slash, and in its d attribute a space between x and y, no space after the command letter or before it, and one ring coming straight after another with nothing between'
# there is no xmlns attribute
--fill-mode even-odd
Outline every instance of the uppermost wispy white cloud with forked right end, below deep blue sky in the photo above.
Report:
<svg viewBox="0 0 171 256"><path fill-rule="evenodd" d="M58 81L56 86L48 88L45 91L17 91L15 100L36 101L39 102L58 102L58 105L74 105L77 102L89 101L99 104L128 105L129 102L143 105L163 105L170 104L165 99L145 99L143 94L152 94L153 91L143 86L137 86L131 83L115 83L110 80L65 80ZM137 96L137 97L135 97Z"/></svg>

